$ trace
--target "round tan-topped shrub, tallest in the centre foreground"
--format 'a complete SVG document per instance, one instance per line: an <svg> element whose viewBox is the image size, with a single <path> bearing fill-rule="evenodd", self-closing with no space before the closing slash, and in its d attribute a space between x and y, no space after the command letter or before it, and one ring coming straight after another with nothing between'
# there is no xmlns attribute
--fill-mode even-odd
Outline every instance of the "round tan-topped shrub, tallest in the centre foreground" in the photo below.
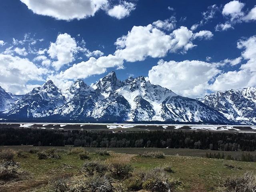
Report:
<svg viewBox="0 0 256 192"><path fill-rule="evenodd" d="M129 160L124 157L112 158L109 160L109 170L117 177L125 177L132 172L132 166L129 164Z"/></svg>

